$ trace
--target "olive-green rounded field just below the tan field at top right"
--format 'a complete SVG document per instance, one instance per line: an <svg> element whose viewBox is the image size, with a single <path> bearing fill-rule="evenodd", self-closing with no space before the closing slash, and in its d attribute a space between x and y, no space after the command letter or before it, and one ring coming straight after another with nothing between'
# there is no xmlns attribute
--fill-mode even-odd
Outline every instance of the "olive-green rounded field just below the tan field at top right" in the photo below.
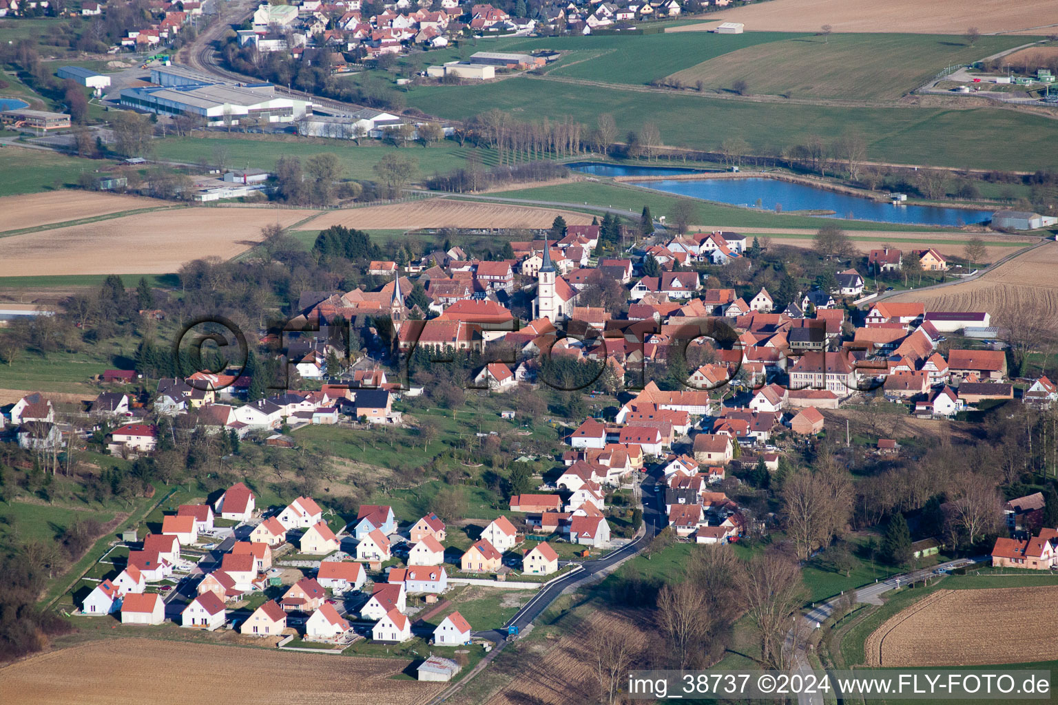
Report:
<svg viewBox="0 0 1058 705"><path fill-rule="evenodd" d="M744 80L755 94L898 98L948 63L969 63L1023 43L1023 37L1010 36L982 37L973 47L947 35L842 34L825 40L800 36L740 49L672 76L689 86L700 80L705 88L716 90Z"/></svg>

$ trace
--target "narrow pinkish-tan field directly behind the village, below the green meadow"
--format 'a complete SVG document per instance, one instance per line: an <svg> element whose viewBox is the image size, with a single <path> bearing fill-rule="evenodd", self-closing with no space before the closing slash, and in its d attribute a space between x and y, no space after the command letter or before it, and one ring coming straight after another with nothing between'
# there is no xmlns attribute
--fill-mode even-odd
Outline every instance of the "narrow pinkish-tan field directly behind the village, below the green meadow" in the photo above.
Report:
<svg viewBox="0 0 1058 705"><path fill-rule="evenodd" d="M571 210L428 199L390 206L367 206L331 210L306 223L303 228L345 225L362 230L416 227L550 227L555 216L568 225L587 225L591 216Z"/></svg>

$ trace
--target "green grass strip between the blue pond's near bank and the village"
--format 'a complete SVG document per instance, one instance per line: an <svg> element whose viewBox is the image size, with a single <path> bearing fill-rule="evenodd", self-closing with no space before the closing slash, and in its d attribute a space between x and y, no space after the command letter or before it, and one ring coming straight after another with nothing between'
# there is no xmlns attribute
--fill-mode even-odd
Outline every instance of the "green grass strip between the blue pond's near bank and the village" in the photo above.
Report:
<svg viewBox="0 0 1058 705"><path fill-rule="evenodd" d="M644 205L651 207L651 214L667 216L672 212L677 199L658 191L637 186L627 186L614 182L590 182L581 181L561 186L536 186L530 188L519 188L510 191L491 193L490 196L508 197L512 199L531 199L539 201L559 201L563 203L587 203L597 206L614 206L628 209L628 218L638 220L639 214ZM470 197L473 198L473 197ZM839 220L833 218L815 218L810 216L790 216L787 214L772 214L760 209L738 208L711 201L691 199L694 202L695 215L693 222L696 225L716 225L730 227L797 227L797 228L819 228L824 225L837 225L845 230L877 230L884 227L887 230L917 230L929 229L925 226L908 226L886 223L879 225L875 222ZM771 237L771 236L769 236ZM776 236L781 237L781 236ZM804 237L788 236L788 237Z"/></svg>

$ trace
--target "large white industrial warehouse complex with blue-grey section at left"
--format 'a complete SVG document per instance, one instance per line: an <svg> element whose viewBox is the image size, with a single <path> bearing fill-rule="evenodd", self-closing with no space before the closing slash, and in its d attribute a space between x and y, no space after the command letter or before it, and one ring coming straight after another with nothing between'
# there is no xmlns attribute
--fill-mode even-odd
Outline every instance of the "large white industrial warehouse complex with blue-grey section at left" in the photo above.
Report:
<svg viewBox="0 0 1058 705"><path fill-rule="evenodd" d="M292 123L311 112L311 104L277 96L272 84L218 81L179 67L152 69L158 86L128 88L121 105L160 115L199 115L211 126L238 125L240 118Z"/></svg>

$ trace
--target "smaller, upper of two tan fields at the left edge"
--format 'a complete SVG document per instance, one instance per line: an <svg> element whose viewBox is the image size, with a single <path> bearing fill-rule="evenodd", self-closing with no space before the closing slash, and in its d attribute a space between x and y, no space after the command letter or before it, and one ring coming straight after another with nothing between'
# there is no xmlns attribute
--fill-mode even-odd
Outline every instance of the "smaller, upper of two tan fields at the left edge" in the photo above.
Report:
<svg viewBox="0 0 1058 705"><path fill-rule="evenodd" d="M159 199L76 189L8 196L0 199L0 214L3 214L0 218L0 231L172 205L170 201Z"/></svg>

